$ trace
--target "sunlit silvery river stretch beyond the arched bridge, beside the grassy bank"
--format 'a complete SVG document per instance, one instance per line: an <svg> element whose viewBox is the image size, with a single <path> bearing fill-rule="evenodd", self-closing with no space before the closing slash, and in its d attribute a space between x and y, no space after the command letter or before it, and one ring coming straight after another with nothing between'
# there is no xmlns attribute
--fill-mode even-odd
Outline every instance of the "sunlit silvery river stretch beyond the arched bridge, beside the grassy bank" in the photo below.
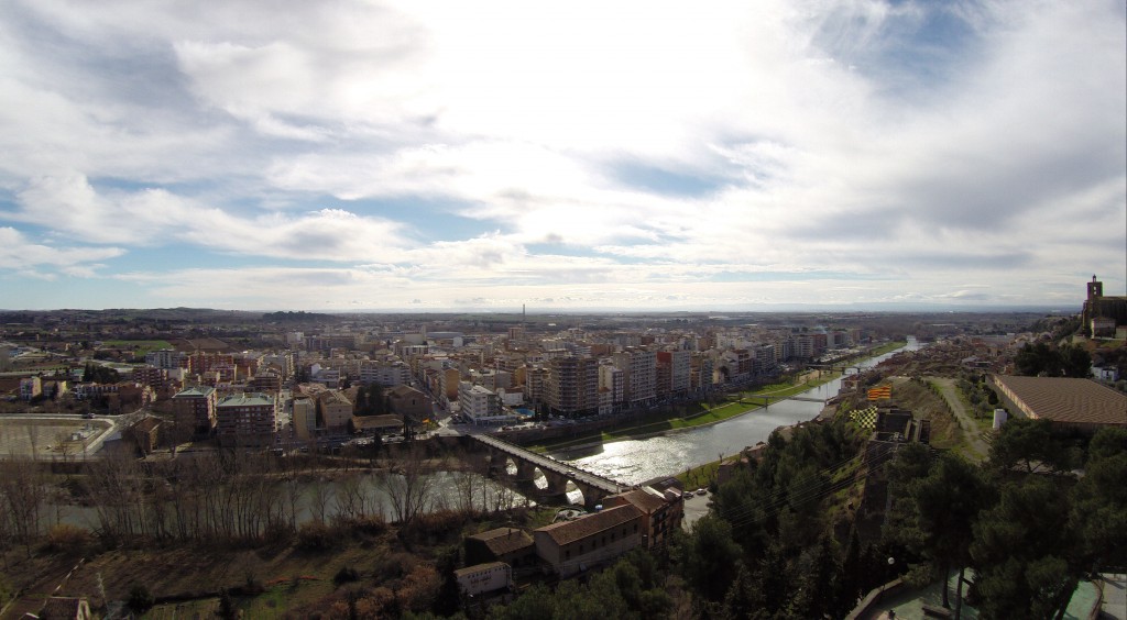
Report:
<svg viewBox="0 0 1127 620"><path fill-rule="evenodd" d="M919 348L916 340L909 338L907 347L854 366L871 368L899 351ZM832 398L837 395L840 388L841 379L834 379L798 396ZM649 439L615 441L593 448L552 452L551 456L595 474L628 484L638 484L658 476L676 475L690 467L735 455L748 446L766 441L771 432L779 426L814 420L823 406L823 403L782 401L711 426Z"/></svg>

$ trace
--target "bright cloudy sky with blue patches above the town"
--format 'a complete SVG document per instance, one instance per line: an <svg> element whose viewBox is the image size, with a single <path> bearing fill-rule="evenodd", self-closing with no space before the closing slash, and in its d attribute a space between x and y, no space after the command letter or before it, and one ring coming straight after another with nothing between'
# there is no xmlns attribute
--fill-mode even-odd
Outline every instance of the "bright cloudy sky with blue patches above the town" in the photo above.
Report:
<svg viewBox="0 0 1127 620"><path fill-rule="evenodd" d="M0 1L0 308L1079 311L1118 0Z"/></svg>

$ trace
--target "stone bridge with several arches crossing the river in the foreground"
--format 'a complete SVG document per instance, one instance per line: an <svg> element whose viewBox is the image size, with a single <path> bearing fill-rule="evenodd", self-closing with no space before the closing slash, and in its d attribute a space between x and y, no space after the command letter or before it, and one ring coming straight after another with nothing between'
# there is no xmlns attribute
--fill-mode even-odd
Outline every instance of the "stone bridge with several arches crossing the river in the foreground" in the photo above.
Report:
<svg viewBox="0 0 1127 620"><path fill-rule="evenodd" d="M565 495L567 494L567 483L570 482L583 493L583 502L587 509L593 509L603 497L631 488L631 485L585 471L543 455L531 452L492 435L476 434L472 438L488 449L490 468L497 471L499 476L508 475L508 461L512 460L516 466L516 474L511 476L513 480L523 483L525 486L534 486L533 480L536 478L536 470L539 469L548 482L547 487L538 487L538 491L542 495Z"/></svg>

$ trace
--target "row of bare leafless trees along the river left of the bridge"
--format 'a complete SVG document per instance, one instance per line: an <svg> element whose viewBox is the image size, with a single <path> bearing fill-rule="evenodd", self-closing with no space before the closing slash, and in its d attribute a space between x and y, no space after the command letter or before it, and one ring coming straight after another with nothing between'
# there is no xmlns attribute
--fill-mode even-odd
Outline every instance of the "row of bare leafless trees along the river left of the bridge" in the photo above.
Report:
<svg viewBox="0 0 1127 620"><path fill-rule="evenodd" d="M82 538L107 547L296 539L310 548L347 537L349 528L382 529L385 520L410 531L432 512L465 519L517 504L483 473L459 470L461 462L419 444L379 457L215 450L147 462L122 453L91 460L60 484L39 462L9 459L0 461L0 552L23 547L30 555L56 530L86 530L60 520L64 503L89 511ZM437 476L447 477L446 493L437 493Z"/></svg>

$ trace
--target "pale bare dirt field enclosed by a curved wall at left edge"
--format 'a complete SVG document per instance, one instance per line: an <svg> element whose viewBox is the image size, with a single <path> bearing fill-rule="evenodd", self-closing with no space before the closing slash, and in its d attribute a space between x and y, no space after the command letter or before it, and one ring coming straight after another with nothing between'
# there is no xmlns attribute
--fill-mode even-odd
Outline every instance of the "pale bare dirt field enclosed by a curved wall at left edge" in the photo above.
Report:
<svg viewBox="0 0 1127 620"><path fill-rule="evenodd" d="M0 417L0 458L63 458L81 456L113 428L109 420L83 420L77 416Z"/></svg>

